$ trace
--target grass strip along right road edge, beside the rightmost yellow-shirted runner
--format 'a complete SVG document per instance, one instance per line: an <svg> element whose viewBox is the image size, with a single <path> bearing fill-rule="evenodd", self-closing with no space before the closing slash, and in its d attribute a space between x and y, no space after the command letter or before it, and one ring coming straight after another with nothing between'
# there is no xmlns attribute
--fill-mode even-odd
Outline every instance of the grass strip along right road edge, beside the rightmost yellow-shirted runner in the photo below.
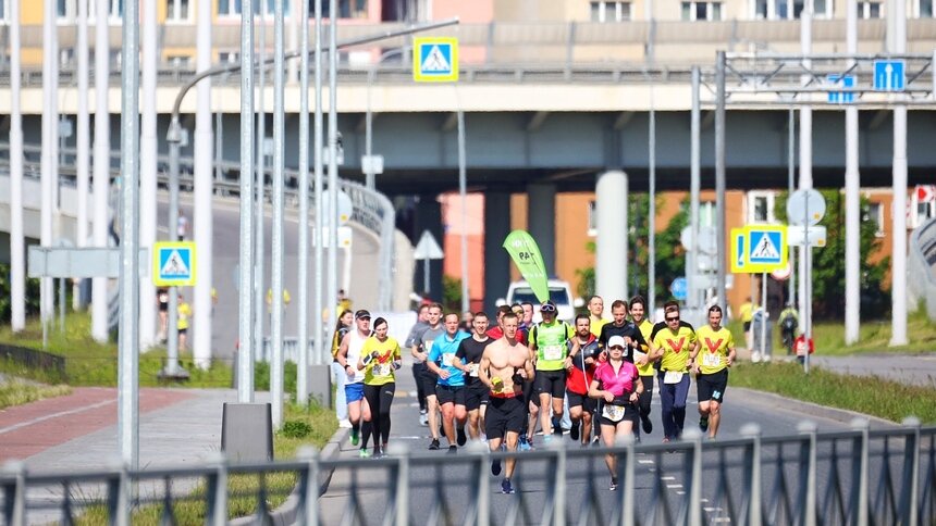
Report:
<svg viewBox="0 0 936 526"><path fill-rule="evenodd" d="M729 385L774 392L787 398L877 416L899 423L916 416L936 423L936 389L908 386L873 377L840 375L821 367L803 368L797 363L739 363L731 367Z"/></svg>

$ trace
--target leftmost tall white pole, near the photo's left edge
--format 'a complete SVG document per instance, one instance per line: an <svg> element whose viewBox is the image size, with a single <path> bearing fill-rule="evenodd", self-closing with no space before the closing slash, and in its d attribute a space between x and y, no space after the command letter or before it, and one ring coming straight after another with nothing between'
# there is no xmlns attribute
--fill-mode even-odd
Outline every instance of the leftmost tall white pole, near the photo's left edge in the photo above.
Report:
<svg viewBox="0 0 936 526"><path fill-rule="evenodd" d="M26 248L23 234L23 113L20 108L20 2L10 2L10 325L26 327Z"/></svg>

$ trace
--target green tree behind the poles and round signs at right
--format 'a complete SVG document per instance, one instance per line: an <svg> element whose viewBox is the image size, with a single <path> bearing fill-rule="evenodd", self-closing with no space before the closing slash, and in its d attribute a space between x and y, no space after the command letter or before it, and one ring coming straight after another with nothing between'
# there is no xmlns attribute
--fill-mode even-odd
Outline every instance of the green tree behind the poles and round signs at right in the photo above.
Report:
<svg viewBox="0 0 936 526"><path fill-rule="evenodd" d="M826 246L813 249L813 313L817 318L840 320L845 314L845 193L839 190L822 190L826 212L821 225L826 227ZM787 223L788 192L777 196L774 215ZM876 264L869 263L870 254L880 249L877 225L869 216L869 201L861 200L861 311L862 313L889 312L890 293L883 287L884 277L890 266L890 258Z"/></svg>

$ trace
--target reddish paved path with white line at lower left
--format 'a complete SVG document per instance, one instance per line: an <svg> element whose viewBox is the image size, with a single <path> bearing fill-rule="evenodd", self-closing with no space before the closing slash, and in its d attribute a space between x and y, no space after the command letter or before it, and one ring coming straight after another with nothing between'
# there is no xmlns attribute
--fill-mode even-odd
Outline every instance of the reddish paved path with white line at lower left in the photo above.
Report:
<svg viewBox="0 0 936 526"><path fill-rule="evenodd" d="M149 413L194 398L171 389L140 389L139 412ZM118 422L116 389L76 387L65 397L0 411L0 463L27 459Z"/></svg>

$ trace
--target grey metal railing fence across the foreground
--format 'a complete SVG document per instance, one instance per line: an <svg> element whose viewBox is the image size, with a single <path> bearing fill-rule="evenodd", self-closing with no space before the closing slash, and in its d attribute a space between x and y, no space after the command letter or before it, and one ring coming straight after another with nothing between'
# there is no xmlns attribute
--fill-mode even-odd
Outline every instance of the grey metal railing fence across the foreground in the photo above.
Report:
<svg viewBox="0 0 936 526"><path fill-rule="evenodd" d="M614 449L562 446L517 453L516 494L498 494L492 460L481 443L459 454L392 451L378 460L299 460L266 464L209 464L180 469L33 474L22 465L0 475L5 524L61 522L95 508L111 524L139 514L161 524L226 524L229 503L253 502L249 522L269 519L274 473L291 473L290 504L278 523L384 525L871 525L936 524L936 427L816 433L810 423L785 437L703 441L688 433L663 444L623 443ZM618 459L620 487L608 491L604 455ZM234 477L257 480L232 491ZM193 491L198 487L198 491ZM285 497L288 490L279 497ZM199 502L201 512L180 512ZM243 505L243 504L241 504ZM196 516L192 516L194 513ZM96 515L97 516L97 515Z"/></svg>

